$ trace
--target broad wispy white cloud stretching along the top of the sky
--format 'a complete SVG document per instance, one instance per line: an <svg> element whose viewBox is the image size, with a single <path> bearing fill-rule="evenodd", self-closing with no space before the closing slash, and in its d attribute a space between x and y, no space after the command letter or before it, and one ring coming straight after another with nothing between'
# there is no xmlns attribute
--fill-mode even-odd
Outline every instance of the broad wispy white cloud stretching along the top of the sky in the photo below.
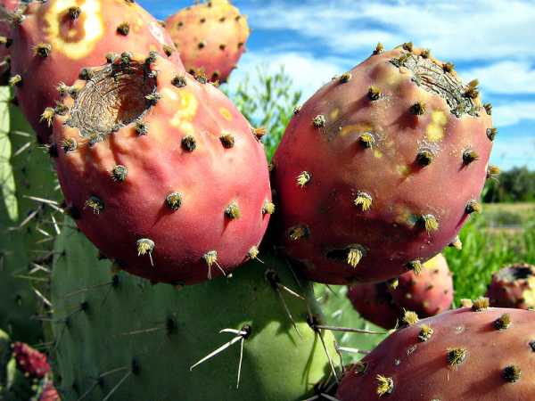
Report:
<svg viewBox="0 0 535 401"><path fill-rule="evenodd" d="M333 51L369 50L375 42L412 40L442 59L495 60L535 56L535 2L361 1L244 4L251 26L291 29ZM384 28L382 28L384 27Z"/></svg>

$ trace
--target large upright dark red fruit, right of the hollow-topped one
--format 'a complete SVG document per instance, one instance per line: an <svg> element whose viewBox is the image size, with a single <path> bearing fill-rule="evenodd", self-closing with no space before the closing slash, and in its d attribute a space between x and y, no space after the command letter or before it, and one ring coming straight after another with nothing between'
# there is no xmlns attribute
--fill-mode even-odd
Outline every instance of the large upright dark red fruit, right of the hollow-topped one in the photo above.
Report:
<svg viewBox="0 0 535 401"><path fill-rule="evenodd" d="M376 52L321 88L276 151L279 242L311 280L403 274L480 209L495 131L477 83L405 47Z"/></svg>

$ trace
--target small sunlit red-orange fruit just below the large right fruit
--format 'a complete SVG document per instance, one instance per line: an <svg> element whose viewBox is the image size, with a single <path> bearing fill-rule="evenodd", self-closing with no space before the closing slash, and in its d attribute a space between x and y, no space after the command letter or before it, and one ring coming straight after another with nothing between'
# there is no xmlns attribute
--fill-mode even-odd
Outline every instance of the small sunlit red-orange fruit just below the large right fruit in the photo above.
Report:
<svg viewBox="0 0 535 401"><path fill-rule="evenodd" d="M441 254L429 259L422 271L401 274L398 287L391 290L392 298L400 309L416 312L420 317L441 314L453 302L453 279L448 262Z"/></svg>

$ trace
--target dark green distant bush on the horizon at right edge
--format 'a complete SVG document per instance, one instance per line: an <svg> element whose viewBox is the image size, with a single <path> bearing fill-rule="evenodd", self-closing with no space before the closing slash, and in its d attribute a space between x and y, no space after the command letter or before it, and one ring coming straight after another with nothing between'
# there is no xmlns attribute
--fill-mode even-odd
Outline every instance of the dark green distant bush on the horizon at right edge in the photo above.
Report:
<svg viewBox="0 0 535 401"><path fill-rule="evenodd" d="M490 180L483 192L486 202L535 201L535 171L513 168Z"/></svg>

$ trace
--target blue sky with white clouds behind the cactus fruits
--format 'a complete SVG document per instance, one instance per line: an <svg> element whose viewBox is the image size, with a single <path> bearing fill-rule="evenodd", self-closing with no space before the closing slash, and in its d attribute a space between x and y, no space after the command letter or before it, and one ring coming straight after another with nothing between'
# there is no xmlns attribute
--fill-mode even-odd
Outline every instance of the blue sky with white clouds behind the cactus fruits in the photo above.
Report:
<svg viewBox="0 0 535 401"><path fill-rule="evenodd" d="M192 4L139 0L157 18ZM235 0L252 29L231 86L257 66L293 78L304 99L381 41L412 41L478 78L498 127L491 162L535 169L535 1Z"/></svg>

